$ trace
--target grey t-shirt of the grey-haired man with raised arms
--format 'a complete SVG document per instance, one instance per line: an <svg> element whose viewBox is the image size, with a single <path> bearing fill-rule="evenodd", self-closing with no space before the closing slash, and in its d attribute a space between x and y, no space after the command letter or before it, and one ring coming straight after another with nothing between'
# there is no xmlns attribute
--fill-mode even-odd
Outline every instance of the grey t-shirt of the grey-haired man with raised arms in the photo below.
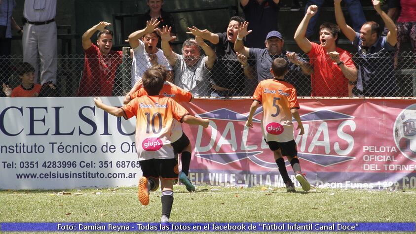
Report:
<svg viewBox="0 0 416 234"><path fill-rule="evenodd" d="M208 75L210 69L205 66L206 56L202 56L192 67L185 64L184 56L176 54L175 85L189 91L194 97L210 96L212 82Z"/></svg>

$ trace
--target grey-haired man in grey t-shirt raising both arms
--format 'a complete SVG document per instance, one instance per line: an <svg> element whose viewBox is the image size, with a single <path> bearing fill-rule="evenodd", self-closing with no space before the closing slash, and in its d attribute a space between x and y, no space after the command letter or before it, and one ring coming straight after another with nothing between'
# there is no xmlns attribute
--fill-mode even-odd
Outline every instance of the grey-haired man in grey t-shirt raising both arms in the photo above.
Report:
<svg viewBox="0 0 416 234"><path fill-rule="evenodd" d="M174 84L189 91L194 97L209 96L211 87L217 88L208 74L216 59L214 50L202 37L195 36L195 39L185 40L182 45L182 55L176 54L169 45L169 41L176 38L170 35L170 31L170 27L163 26L159 33L162 38L163 53L169 64L174 67ZM201 56L201 47L206 56Z"/></svg>

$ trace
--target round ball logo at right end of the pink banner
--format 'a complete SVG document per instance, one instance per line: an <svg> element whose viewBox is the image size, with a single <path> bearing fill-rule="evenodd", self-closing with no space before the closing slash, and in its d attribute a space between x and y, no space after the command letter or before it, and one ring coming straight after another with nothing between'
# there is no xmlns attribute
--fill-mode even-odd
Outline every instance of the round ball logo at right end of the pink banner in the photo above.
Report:
<svg viewBox="0 0 416 234"><path fill-rule="evenodd" d="M397 116L393 137L400 152L416 162L416 104L406 107Z"/></svg>

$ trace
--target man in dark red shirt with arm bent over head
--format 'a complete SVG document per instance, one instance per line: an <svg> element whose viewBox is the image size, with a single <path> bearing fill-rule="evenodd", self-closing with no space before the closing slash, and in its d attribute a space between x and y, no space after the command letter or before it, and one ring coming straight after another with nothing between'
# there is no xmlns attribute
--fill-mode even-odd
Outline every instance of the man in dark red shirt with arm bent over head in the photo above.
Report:
<svg viewBox="0 0 416 234"><path fill-rule="evenodd" d="M113 94L115 71L121 64L122 51L113 51L113 32L105 27L111 25L100 22L82 35L82 48L85 51L84 70L77 96L108 97ZM97 45L91 36L98 31Z"/></svg>

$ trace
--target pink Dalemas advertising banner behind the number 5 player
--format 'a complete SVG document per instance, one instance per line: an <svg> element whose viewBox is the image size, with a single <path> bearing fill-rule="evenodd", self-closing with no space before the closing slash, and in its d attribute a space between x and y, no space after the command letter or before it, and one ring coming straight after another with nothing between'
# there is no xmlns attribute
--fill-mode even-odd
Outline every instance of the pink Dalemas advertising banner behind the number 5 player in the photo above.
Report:
<svg viewBox="0 0 416 234"><path fill-rule="evenodd" d="M195 152L195 184L283 186L261 129L244 126L253 100L193 100L184 106L211 120L208 129L183 125ZM301 99L305 134L298 135L303 172L316 186L416 188L416 101L394 99ZM286 161L288 172L292 167ZM201 183L202 180L202 183Z"/></svg>

